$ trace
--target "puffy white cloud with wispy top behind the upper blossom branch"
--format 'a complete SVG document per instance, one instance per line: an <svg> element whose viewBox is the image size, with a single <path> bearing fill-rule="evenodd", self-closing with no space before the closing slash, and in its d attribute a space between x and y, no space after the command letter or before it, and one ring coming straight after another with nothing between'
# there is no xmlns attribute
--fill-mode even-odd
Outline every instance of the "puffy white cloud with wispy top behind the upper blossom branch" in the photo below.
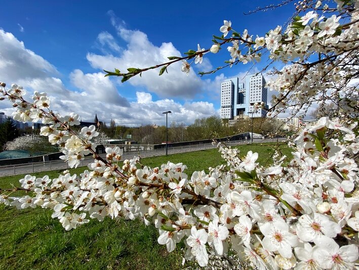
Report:
<svg viewBox="0 0 359 270"><path fill-rule="evenodd" d="M143 68L158 63L167 62L168 56L181 56L181 53L169 43L162 43L161 46L153 45L147 35L140 30L127 29L123 21L109 13L112 24L116 27L118 36L127 43L127 48L118 55L99 55L88 53L87 59L95 69L113 70L114 67L126 72L128 67ZM149 70L139 76L131 78L127 83L133 86L145 87L148 91L156 93L159 97L182 97L193 98L203 91L203 83L194 71L189 76L181 71L181 62L168 67L168 74L158 76L159 70ZM210 69L212 66L209 60L205 60L203 66Z"/></svg>

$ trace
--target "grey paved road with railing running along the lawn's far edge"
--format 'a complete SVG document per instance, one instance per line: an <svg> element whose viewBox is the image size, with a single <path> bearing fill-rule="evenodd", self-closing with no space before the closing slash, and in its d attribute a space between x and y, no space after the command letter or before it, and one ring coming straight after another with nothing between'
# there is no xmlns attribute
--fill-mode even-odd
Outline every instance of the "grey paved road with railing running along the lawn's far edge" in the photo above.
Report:
<svg viewBox="0 0 359 270"><path fill-rule="evenodd" d="M283 141L284 138L280 139L254 139L255 143L264 143L264 142L277 142ZM242 140L242 141L232 141L226 143L227 145L234 146L240 144L248 144L250 140ZM200 151L206 149L216 148L212 146L212 144L199 144L199 145L191 145L191 146L183 146L183 147L169 147L168 154L178 154L192 151ZM155 156L163 156L166 154L165 149L156 149L156 150L146 150L146 151L131 151L123 153L123 160L131 159L134 156L141 155L141 157L155 157ZM105 157L106 154L100 154L100 156ZM81 161L80 166L86 166L89 163L93 162L92 157L85 158ZM36 162L36 163L27 163L27 164L18 164L18 165L9 165L9 166L0 166L0 177L3 176L11 176L11 175L21 175L21 174L31 174L37 172L46 172L46 171L57 171L57 170L66 170L69 168L67 163L63 160L55 160L55 161L47 161L47 162Z"/></svg>

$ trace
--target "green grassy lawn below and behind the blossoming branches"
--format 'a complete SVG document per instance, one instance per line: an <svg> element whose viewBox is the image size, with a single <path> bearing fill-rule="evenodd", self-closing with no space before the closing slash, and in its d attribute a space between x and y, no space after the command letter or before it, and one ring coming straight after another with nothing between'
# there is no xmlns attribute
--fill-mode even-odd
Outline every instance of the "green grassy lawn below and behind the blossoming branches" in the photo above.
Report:
<svg viewBox="0 0 359 270"><path fill-rule="evenodd" d="M259 153L258 162L271 163L274 144L240 146L241 154ZM280 146L287 156L291 150ZM159 166L168 160L187 165L186 173L207 170L224 163L216 149L144 158L142 163ZM79 174L84 167L70 170ZM55 178L61 171L36 173ZM0 187L18 186L22 176L0 178ZM16 210L0 205L0 269L178 269L178 253L168 253L157 244L157 229L140 221L91 220L88 224L65 231L52 211L41 208Z"/></svg>

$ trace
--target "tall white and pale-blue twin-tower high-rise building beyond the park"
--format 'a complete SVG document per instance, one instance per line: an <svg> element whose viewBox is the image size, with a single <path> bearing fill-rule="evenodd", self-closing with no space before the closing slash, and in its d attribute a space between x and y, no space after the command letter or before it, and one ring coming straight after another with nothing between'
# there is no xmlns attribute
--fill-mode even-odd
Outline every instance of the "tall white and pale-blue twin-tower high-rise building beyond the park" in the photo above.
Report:
<svg viewBox="0 0 359 270"><path fill-rule="evenodd" d="M267 106L267 88L262 74L247 75L245 82L239 78L231 78L221 83L221 118L241 119L252 117L265 117L266 111L258 109L253 111L255 103L264 102Z"/></svg>

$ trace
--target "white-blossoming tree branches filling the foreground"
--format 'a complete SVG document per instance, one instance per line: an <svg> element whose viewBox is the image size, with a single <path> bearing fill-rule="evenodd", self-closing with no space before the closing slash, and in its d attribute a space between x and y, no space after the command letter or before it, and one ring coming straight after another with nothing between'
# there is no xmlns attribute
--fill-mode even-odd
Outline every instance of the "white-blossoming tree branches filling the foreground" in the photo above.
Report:
<svg viewBox="0 0 359 270"><path fill-rule="evenodd" d="M46 93L35 92L28 102L22 87L13 84L6 90L1 83L3 98L18 108L14 119L49 124L41 134L63 149L62 158L71 167L88 153L94 162L80 176L51 180L27 175L20 180L21 187L1 190L0 201L19 209L50 208L66 230L89 218L140 218L158 228L158 243L169 252L183 240L184 258L200 266L208 264L209 249L219 257L232 249L259 269L354 268L359 229L359 2L303 1L296 9L298 16L286 29L278 26L264 37L250 36L247 30L239 33L224 21L222 36L214 36L210 49L198 45L185 57L170 56L167 63L106 75L126 81L156 68L162 75L178 61L188 73L205 54L217 53L226 44L228 66L264 56L283 62L284 69L272 70L276 76L268 83L279 92L268 114L289 107L294 113L303 112L310 104L330 100L340 116L323 117L300 131L290 142L291 160L277 155L272 165L263 167L256 162L258 153L242 156L237 149L218 144L227 164L192 176L186 175L182 163L149 168L137 157L119 163L118 148L107 148L106 158L96 154L95 128L73 131L78 115L51 111ZM9 195L17 190L30 193Z"/></svg>

